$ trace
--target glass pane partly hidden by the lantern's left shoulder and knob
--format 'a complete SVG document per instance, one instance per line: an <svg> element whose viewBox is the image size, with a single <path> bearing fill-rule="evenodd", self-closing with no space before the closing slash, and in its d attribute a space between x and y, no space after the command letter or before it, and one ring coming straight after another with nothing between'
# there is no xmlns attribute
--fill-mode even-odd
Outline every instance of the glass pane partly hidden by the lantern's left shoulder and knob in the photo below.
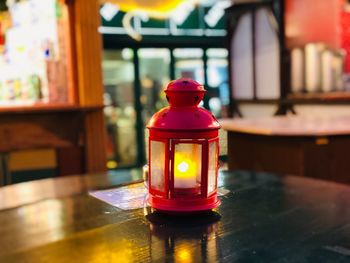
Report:
<svg viewBox="0 0 350 263"><path fill-rule="evenodd" d="M138 56L142 115L146 124L155 112L168 106L163 88L170 80L170 51L165 48L141 48Z"/></svg>

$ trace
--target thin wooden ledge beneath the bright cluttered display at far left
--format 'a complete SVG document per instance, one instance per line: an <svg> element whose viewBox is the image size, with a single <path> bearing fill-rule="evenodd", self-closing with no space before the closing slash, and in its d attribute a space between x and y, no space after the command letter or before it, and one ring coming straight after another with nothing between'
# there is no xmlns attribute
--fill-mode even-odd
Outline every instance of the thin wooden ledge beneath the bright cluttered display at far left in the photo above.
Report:
<svg viewBox="0 0 350 263"><path fill-rule="evenodd" d="M32 105L0 106L0 114L13 113L49 113L49 112L69 112L69 111L95 111L100 110L103 105L79 106L68 103L35 103Z"/></svg>

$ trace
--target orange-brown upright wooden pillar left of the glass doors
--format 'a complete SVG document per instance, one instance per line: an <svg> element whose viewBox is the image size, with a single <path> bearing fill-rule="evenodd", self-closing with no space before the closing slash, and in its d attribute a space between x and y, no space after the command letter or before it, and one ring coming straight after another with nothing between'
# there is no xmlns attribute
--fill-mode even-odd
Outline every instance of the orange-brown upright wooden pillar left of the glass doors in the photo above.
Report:
<svg viewBox="0 0 350 263"><path fill-rule="evenodd" d="M101 70L102 37L98 32L101 23L100 1L74 0L75 50L80 106L103 105L103 81ZM105 117L103 108L88 112L85 116L85 168L88 173L106 171L107 150Z"/></svg>

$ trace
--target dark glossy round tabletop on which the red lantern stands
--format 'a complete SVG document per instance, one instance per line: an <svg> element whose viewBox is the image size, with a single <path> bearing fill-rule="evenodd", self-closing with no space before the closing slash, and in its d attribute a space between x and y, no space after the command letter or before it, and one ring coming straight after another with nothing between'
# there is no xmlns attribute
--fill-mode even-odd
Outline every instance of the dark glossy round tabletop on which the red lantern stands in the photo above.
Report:
<svg viewBox="0 0 350 263"><path fill-rule="evenodd" d="M213 213L123 211L87 194L139 171L0 189L0 262L350 262L350 187L221 172Z"/></svg>

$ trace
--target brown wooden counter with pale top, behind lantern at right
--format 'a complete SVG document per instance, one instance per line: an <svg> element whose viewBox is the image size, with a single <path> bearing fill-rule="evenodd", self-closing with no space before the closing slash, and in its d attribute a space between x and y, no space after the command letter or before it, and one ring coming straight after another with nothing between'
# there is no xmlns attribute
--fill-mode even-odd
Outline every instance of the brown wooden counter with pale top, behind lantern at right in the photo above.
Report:
<svg viewBox="0 0 350 263"><path fill-rule="evenodd" d="M350 116L223 119L231 170L350 183Z"/></svg>

